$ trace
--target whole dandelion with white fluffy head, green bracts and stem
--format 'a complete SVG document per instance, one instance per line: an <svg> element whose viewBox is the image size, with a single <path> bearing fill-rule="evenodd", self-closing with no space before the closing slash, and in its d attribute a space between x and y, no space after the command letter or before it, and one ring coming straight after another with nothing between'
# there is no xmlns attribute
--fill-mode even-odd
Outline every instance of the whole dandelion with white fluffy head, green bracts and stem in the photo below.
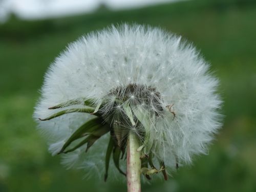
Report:
<svg viewBox="0 0 256 192"><path fill-rule="evenodd" d="M196 49L158 28L121 25L79 38L52 63L34 118L53 155L129 191L207 153L221 126L218 80ZM126 162L126 171L125 171ZM158 174L160 175L160 174Z"/></svg>

